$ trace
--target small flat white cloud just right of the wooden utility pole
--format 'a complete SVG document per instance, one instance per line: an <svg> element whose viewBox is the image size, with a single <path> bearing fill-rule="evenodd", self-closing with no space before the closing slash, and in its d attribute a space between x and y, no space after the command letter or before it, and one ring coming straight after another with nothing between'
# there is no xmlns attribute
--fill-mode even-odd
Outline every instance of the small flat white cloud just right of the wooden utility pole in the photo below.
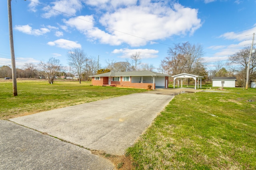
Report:
<svg viewBox="0 0 256 170"><path fill-rule="evenodd" d="M48 28L32 29L29 25L15 25L14 29L30 35L44 35L50 32Z"/></svg>

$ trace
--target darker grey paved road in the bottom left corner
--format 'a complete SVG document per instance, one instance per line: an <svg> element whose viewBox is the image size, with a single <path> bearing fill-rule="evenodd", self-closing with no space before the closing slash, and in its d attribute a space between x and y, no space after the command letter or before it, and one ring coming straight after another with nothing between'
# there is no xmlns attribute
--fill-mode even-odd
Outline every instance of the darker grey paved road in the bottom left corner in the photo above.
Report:
<svg viewBox="0 0 256 170"><path fill-rule="evenodd" d="M0 120L1 170L113 170L89 150Z"/></svg>

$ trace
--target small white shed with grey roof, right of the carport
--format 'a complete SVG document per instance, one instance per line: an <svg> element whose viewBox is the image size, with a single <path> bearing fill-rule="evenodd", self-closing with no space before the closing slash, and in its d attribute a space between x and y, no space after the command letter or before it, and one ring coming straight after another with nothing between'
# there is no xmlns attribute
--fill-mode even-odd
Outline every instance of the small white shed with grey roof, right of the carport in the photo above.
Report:
<svg viewBox="0 0 256 170"><path fill-rule="evenodd" d="M212 87L236 87L236 77L212 77Z"/></svg>

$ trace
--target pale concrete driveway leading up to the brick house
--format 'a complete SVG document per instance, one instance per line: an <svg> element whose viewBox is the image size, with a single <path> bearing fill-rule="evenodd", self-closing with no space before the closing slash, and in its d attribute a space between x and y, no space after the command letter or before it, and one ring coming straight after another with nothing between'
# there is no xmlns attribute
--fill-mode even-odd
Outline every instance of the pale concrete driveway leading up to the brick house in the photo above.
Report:
<svg viewBox="0 0 256 170"><path fill-rule="evenodd" d="M172 92L162 90L45 111L10 121L88 149L122 155L172 100Z"/></svg>

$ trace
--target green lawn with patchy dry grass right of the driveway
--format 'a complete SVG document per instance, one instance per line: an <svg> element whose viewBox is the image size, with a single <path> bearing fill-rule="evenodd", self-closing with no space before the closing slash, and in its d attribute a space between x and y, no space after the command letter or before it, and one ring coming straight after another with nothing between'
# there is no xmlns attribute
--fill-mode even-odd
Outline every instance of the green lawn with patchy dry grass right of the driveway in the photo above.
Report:
<svg viewBox="0 0 256 170"><path fill-rule="evenodd" d="M256 169L256 89L176 96L126 155L136 169Z"/></svg>

